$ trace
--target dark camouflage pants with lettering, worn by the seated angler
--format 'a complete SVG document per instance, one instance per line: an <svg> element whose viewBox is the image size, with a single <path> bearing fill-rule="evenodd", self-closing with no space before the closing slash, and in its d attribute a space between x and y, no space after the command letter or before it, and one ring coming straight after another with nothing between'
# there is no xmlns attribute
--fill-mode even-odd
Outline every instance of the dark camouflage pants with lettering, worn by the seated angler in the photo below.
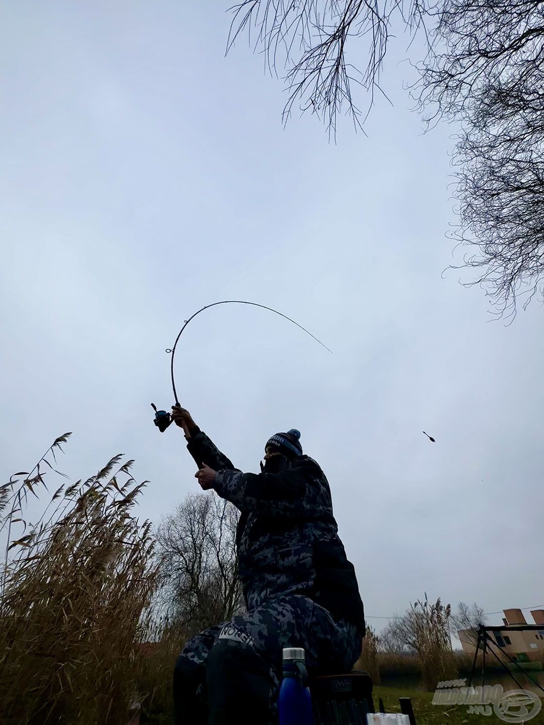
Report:
<svg viewBox="0 0 544 725"><path fill-rule="evenodd" d="M308 597L285 595L210 627L186 643L174 672L176 725L273 722L281 650L303 647L310 674L348 672L360 654L357 628L335 622ZM222 683L221 680L228 680ZM199 711L199 719L189 712Z"/></svg>

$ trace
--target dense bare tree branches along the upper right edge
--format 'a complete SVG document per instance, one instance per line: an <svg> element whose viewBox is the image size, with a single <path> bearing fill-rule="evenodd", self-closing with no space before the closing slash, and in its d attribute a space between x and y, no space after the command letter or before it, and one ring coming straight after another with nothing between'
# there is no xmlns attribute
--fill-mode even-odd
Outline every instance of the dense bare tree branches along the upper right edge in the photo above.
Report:
<svg viewBox="0 0 544 725"><path fill-rule="evenodd" d="M442 0L435 18L419 107L429 123L461 123L453 239L476 245L470 283L511 315L543 291L544 4Z"/></svg>

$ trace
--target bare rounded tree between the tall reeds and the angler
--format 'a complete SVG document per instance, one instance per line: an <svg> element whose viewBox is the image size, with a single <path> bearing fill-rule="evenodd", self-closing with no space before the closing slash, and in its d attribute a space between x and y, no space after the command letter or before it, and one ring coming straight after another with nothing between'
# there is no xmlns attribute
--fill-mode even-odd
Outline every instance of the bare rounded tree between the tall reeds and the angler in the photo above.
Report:
<svg viewBox="0 0 544 725"><path fill-rule="evenodd" d="M237 522L236 508L213 494L189 494L162 521L156 535L170 621L200 631L243 610Z"/></svg>

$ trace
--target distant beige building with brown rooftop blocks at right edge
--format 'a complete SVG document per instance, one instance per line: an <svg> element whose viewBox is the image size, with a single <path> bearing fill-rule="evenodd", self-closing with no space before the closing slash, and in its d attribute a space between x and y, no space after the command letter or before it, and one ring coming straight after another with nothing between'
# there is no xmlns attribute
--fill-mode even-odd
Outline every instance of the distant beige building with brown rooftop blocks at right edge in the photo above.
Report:
<svg viewBox="0 0 544 725"><path fill-rule="evenodd" d="M515 659L516 655L524 655L529 660L544 660L544 609L532 610L535 624L542 624L542 629L519 629L527 624L521 609L505 609L503 626L487 632L491 641L500 647L503 653ZM511 629L517 626L518 629ZM534 627L535 625L532 625ZM474 629L460 629L458 637L463 652L474 655L478 634Z"/></svg>

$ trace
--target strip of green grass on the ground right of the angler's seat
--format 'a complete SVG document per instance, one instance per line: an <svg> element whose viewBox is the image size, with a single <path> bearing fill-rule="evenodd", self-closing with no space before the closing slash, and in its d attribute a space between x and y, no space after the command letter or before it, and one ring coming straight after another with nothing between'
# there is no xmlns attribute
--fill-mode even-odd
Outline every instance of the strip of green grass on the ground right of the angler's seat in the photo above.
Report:
<svg viewBox="0 0 544 725"><path fill-rule="evenodd" d="M417 725L496 725L503 722L495 713L490 716L469 714L468 705L433 705L433 695L433 692L414 689L374 687L374 706L377 710L381 697L387 713L400 713L399 697L410 697ZM527 722L544 725L544 708Z"/></svg>

